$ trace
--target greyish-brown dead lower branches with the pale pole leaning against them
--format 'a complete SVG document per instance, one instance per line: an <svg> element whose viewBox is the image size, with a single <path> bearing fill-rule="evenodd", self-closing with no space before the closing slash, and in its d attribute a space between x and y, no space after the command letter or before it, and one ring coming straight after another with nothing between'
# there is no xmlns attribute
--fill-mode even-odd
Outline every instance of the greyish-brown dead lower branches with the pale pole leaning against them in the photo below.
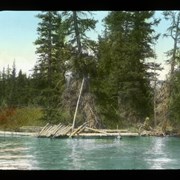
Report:
<svg viewBox="0 0 180 180"><path fill-rule="evenodd" d="M61 97L62 113L65 113L65 121L72 123L72 129L87 122L91 128L101 128L101 120L96 110L95 97L87 91L86 79L82 81L71 79L71 83L65 89Z"/></svg>

